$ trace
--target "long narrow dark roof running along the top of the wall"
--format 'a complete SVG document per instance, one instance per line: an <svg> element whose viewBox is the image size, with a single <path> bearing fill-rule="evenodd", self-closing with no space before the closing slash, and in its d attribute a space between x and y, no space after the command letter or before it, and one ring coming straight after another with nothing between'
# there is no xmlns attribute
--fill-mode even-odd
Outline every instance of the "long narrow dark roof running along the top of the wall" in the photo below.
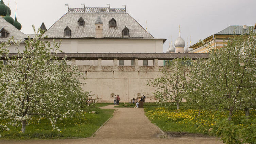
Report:
<svg viewBox="0 0 256 144"><path fill-rule="evenodd" d="M17 56L17 53L9 53L9 57ZM75 58L76 60L97 60L101 58L102 60L113 60L117 58L118 60L134 60L138 58L139 60L172 60L175 58L192 58L197 60L198 58L208 58L208 54L197 54L197 53L57 53L57 57L67 59ZM2 59L5 56L2 55Z"/></svg>

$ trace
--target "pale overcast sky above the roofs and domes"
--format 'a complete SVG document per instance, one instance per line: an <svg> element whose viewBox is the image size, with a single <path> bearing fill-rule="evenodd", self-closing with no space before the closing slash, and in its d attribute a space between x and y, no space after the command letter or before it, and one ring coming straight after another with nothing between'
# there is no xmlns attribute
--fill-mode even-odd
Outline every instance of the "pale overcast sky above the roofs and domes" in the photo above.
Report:
<svg viewBox="0 0 256 144"><path fill-rule="evenodd" d="M4 0L7 5L8 0ZM15 0L9 0L11 16L15 18ZM192 44L215 34L229 25L254 25L256 22L256 0L17 0L17 19L23 33L33 33L45 23L50 28L69 8L108 7L122 8L156 38L165 38L164 52L168 48L168 37L173 43L178 37L186 41L191 36ZM190 42L189 42L190 45Z"/></svg>

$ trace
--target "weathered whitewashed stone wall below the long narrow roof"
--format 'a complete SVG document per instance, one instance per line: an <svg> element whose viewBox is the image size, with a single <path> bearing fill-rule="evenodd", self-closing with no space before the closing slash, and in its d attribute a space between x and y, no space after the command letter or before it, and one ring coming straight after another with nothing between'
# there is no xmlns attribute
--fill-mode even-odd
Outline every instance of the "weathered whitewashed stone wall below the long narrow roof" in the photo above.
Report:
<svg viewBox="0 0 256 144"><path fill-rule="evenodd" d="M157 63L157 61L156 61ZM87 73L83 89L91 91L97 102L113 102L111 94L119 95L120 102L130 102L140 94L146 96L146 102L155 102L153 92L156 89L147 85L147 80L160 75L160 66L78 66Z"/></svg>

